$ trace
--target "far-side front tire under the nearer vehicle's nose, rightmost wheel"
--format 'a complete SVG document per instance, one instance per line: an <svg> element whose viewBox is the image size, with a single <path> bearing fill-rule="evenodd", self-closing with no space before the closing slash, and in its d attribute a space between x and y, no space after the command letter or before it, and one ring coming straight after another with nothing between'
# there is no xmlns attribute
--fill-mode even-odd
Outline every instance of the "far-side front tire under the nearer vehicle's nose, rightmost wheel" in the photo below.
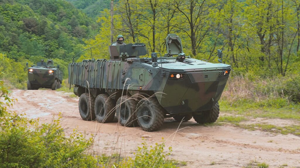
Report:
<svg viewBox="0 0 300 168"><path fill-rule="evenodd" d="M216 103L211 110L203 111L202 114L193 114L193 118L197 123L214 123L220 113L219 103Z"/></svg>

